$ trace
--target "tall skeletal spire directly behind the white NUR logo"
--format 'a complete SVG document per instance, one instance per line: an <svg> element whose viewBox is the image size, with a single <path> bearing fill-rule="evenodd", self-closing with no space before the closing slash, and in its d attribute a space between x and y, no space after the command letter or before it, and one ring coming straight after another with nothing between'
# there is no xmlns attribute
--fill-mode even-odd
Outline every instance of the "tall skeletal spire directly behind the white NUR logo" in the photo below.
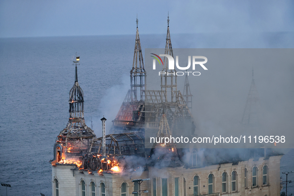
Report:
<svg viewBox="0 0 294 196"><path fill-rule="evenodd" d="M174 57L173 47L171 42L171 35L170 35L170 16L168 14L168 30L166 35L166 44L164 54L171 55ZM177 91L177 74L176 70L168 69L168 58L164 57L163 60L163 70L162 72L166 72L165 75L161 75L161 91L165 92L165 102L174 102L177 100L175 99L175 92ZM168 93L171 93L171 97L169 97Z"/></svg>

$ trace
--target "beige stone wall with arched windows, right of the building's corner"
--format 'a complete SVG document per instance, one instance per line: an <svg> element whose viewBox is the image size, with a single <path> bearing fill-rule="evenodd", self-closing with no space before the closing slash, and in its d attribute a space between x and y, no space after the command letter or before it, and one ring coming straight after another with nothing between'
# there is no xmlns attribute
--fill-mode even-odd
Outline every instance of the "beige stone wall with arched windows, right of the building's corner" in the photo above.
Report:
<svg viewBox="0 0 294 196"><path fill-rule="evenodd" d="M208 194L208 175L213 174L213 193L229 196L280 196L280 160L282 156L274 156L269 159L260 158L259 160L250 159L249 161L239 162L238 165L220 164L202 168L149 168L149 178L157 180L157 196L162 196L162 178L168 178L168 195L175 196L175 178L179 178L179 196L184 196L184 178L186 179L186 195L193 196L194 177L198 176L199 195ZM268 166L268 185L263 185L262 167ZM258 168L257 187L252 187L252 168ZM245 168L247 168L247 184L245 188ZM231 173L237 173L236 191L231 191ZM227 173L227 190L222 193L223 172ZM152 182L150 187L152 188ZM152 192L152 189L149 190ZM153 194L150 194L153 196Z"/></svg>

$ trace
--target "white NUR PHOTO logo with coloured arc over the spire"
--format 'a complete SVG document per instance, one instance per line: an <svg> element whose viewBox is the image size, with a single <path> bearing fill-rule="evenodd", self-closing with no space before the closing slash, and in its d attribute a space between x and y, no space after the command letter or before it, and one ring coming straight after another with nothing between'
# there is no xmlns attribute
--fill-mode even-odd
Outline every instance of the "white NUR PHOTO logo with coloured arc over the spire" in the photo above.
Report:
<svg viewBox="0 0 294 196"><path fill-rule="evenodd" d="M175 69L175 60L171 55L168 54L160 54L159 56L151 53L154 56L153 57L153 70L156 69L156 60L158 61L159 65L163 65L163 61L160 57L166 57L168 59L168 69L169 70L174 70ZM196 59L203 59L204 61L196 61ZM196 65L200 65L204 70L208 70L203 64L207 63L207 58L204 56L192 56L192 69L195 70ZM191 56L188 56L188 65L186 67L181 67L179 65L179 56L176 56L176 66L179 70L188 70L191 67ZM184 76L185 73L189 76L189 73L192 73L193 76L200 76L200 72L159 72L159 76L162 75L177 75L177 76Z"/></svg>

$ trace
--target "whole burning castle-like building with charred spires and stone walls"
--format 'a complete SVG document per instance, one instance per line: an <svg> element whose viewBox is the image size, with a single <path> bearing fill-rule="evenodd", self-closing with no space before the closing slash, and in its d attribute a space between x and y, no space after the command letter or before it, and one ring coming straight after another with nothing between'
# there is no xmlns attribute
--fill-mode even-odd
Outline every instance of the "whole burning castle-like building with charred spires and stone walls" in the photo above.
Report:
<svg viewBox="0 0 294 196"><path fill-rule="evenodd" d="M165 54L173 56L169 17ZM193 130L190 135L196 132L187 105L189 102L192 106L188 78L186 100L177 90L176 74L161 76L160 91L146 88L138 20L130 90L108 135L105 134L105 117L101 118L100 138L85 123L83 91L78 83L78 57L74 63L70 118L56 138L54 159L50 161L53 196L280 195L280 154L201 149L199 146L180 149L174 143L145 148L147 129L155 137L185 130ZM163 71L176 72L168 69L167 59L164 59Z"/></svg>

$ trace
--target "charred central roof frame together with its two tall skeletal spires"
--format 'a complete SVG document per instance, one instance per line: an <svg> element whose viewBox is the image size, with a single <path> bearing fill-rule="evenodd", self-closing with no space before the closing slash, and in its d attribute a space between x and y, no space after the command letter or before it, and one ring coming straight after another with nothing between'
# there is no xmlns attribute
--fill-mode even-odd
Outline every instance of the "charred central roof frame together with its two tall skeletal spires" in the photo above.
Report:
<svg viewBox="0 0 294 196"><path fill-rule="evenodd" d="M112 121L110 133L129 131L141 131L152 129L157 134L163 110L170 124L170 129L182 129L184 127L191 133L192 113L185 98L177 91L176 70L168 69L168 59L165 58L163 71L168 76L161 77L161 90L146 90L146 71L144 69L141 44L137 28L134 50L133 67L131 70L131 90L128 91L115 119ZM172 43L169 31L166 38L165 54L173 56ZM139 93L141 92L141 94ZM141 99L139 99L139 95ZM137 99L138 98L138 99Z"/></svg>

